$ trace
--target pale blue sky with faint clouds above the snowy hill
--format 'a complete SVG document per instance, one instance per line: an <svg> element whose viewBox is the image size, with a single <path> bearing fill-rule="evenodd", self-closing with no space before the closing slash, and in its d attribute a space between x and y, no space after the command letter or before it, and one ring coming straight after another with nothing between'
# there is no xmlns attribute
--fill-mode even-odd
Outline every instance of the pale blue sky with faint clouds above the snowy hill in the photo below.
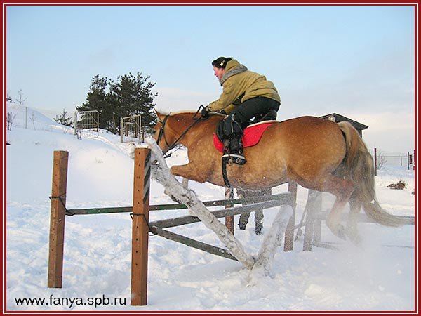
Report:
<svg viewBox="0 0 421 316"><path fill-rule="evenodd" d="M6 89L74 112L99 74L142 72L156 109L193 110L222 88L212 60L273 81L278 119L342 114L368 147L415 149L414 6L6 6Z"/></svg>

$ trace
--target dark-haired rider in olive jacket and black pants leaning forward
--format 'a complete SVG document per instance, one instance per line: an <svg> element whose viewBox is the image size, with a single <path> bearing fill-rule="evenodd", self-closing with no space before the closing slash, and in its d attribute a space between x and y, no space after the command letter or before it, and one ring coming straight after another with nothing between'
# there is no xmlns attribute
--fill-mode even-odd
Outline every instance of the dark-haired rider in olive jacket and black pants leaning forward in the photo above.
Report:
<svg viewBox="0 0 421 316"><path fill-rule="evenodd" d="M228 114L218 124L217 134L224 143L222 162L245 164L243 156L243 129L253 117L261 119L269 111L278 111L281 98L272 81L265 76L250 72L233 58L220 57L212 62L215 76L223 87L220 98L202 111L202 117L208 112Z"/></svg>

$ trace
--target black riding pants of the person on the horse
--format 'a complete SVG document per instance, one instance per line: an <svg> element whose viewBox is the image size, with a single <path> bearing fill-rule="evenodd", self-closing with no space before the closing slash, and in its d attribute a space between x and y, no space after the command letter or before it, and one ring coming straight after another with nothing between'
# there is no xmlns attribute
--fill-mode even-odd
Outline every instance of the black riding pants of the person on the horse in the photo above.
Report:
<svg viewBox="0 0 421 316"><path fill-rule="evenodd" d="M260 96L248 99L239 107L236 107L221 122L220 126L218 126L218 136L223 139L240 138L250 119L253 119L253 117L255 121L261 119L270 110L278 111L280 105L281 103L276 100Z"/></svg>

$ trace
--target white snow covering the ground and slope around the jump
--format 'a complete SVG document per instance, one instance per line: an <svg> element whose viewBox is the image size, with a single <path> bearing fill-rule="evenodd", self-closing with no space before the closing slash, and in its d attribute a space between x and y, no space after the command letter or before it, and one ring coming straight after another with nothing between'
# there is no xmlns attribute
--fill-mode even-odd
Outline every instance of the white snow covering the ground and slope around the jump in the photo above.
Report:
<svg viewBox="0 0 421 316"><path fill-rule="evenodd" d="M280 246L268 276L250 282L241 263L185 245L149 237L148 305L130 306L131 218L128 213L67 216L62 289L47 288L53 151L69 152L67 208L130 206L133 199L131 145L107 131L73 130L34 112L25 129L25 113L7 131L6 147L6 310L7 311L409 311L415 310L415 226L386 228L361 223L361 246L333 236L322 223L321 240L340 250L313 247L293 251ZM168 165L187 161L185 150ZM178 180L181 180L178 178ZM405 190L390 183L405 181ZM380 204L396 215L414 216L414 171L385 166L376 176ZM192 181L202 200L223 199L224 189ZM287 185L274 188L286 192ZM308 190L298 187L300 220ZM323 211L333 204L323 193ZM151 181L151 204L173 203L163 187ZM262 236L254 234L253 215L235 235L256 256L279 208L265 210ZM345 210L347 211L348 208ZM186 215L187 210L152 211L149 220ZM236 223L238 216L235 217ZM172 228L180 235L225 247L202 223ZM45 298L44 305L18 305L18 298ZM107 301L107 299L109 301ZM114 302L114 299L116 301ZM48 303L48 305L46 305ZM86 305L83 305L86 303ZM96 305L95 305L96 304Z"/></svg>

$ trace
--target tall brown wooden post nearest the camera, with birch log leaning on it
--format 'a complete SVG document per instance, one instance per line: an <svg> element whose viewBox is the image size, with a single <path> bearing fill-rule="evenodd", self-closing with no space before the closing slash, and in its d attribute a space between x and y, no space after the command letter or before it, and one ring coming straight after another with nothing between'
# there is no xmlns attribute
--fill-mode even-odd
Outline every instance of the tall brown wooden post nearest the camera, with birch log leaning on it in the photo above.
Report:
<svg viewBox="0 0 421 316"><path fill-rule="evenodd" d="M131 305L147 305L147 249L149 242L149 178L151 150L135 149Z"/></svg>

